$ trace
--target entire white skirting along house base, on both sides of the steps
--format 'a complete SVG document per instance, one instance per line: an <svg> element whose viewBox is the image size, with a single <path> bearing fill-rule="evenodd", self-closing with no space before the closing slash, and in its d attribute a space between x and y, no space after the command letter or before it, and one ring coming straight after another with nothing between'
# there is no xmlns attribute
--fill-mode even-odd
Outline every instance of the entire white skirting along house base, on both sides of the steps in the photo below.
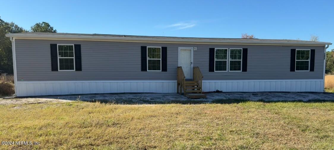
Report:
<svg viewBox="0 0 334 150"><path fill-rule="evenodd" d="M203 91L323 92L323 80L203 81ZM95 93L176 93L176 81L19 81L17 96Z"/></svg>

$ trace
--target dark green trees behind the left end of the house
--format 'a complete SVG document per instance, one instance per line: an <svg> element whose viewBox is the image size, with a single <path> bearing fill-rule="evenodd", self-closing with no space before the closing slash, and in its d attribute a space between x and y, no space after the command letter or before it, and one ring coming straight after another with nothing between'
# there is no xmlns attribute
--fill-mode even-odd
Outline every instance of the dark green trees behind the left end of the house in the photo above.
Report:
<svg viewBox="0 0 334 150"><path fill-rule="evenodd" d="M13 74L12 42L5 36L7 33L21 32L57 32L47 22L38 22L26 30L14 22L6 22L0 18L0 71Z"/></svg>

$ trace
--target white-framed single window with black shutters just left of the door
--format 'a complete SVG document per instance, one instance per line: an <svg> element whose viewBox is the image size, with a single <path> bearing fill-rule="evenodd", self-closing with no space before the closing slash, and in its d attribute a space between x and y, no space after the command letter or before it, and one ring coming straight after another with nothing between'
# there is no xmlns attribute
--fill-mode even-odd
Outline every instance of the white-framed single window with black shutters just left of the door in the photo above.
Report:
<svg viewBox="0 0 334 150"><path fill-rule="evenodd" d="M147 46L147 71L161 71L161 47Z"/></svg>

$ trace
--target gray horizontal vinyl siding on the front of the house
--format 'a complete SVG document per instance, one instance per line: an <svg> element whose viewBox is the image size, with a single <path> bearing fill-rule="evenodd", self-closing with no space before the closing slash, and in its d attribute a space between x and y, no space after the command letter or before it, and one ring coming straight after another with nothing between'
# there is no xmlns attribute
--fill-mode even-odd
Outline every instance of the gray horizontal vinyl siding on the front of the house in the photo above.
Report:
<svg viewBox="0 0 334 150"><path fill-rule="evenodd" d="M82 71L51 71L50 44L81 44ZM16 39L18 81L176 80L178 47L197 47L203 80L323 79L324 46L208 45ZM167 46L167 72L141 71L141 46ZM248 48L247 72L209 72L209 48ZM290 49L315 49L314 71L290 72Z"/></svg>

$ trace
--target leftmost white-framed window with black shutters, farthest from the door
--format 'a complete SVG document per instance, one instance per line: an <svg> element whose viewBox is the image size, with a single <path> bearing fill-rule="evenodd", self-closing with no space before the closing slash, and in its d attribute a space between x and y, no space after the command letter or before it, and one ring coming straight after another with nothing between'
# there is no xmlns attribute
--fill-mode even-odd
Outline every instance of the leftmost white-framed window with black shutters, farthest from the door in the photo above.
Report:
<svg viewBox="0 0 334 150"><path fill-rule="evenodd" d="M58 71L75 71L74 44L57 44Z"/></svg>

